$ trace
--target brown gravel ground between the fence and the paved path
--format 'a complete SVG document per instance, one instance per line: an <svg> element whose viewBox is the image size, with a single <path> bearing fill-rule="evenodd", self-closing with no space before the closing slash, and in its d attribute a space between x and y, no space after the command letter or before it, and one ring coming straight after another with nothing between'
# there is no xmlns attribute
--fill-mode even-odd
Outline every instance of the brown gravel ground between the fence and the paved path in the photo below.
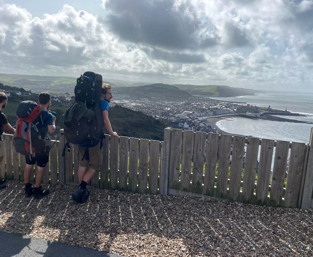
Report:
<svg viewBox="0 0 313 257"><path fill-rule="evenodd" d="M313 210L269 208L186 196L89 187L49 187L24 198L23 183L0 191L0 230L124 256L313 256Z"/></svg>

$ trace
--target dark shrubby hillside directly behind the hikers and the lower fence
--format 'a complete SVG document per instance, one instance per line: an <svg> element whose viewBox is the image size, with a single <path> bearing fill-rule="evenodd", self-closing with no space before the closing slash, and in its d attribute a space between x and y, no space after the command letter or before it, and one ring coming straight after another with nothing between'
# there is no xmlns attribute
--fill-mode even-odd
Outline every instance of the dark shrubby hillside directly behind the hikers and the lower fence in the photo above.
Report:
<svg viewBox="0 0 313 257"><path fill-rule="evenodd" d="M0 91L4 91L10 95L8 97L8 104L3 112L12 126L17 120L16 110L19 103L24 100L37 101L38 99L37 93L31 93L22 88L4 86L1 83ZM62 128L61 117L69 105L69 102L60 103L54 101L54 99L51 101L50 109L57 113L56 125L58 129ZM163 140L165 125L153 117L120 106L110 108L109 117L113 130L116 131L119 136Z"/></svg>

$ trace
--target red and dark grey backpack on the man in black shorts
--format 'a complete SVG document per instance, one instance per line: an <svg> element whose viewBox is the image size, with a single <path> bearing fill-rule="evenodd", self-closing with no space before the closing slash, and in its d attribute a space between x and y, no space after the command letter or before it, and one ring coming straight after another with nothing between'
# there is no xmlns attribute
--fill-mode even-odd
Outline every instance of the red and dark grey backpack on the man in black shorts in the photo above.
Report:
<svg viewBox="0 0 313 257"><path fill-rule="evenodd" d="M33 101L22 101L16 111L18 120L14 133L13 145L22 155L35 156L36 152L45 152L49 145L46 132L38 128L45 124L41 107Z"/></svg>

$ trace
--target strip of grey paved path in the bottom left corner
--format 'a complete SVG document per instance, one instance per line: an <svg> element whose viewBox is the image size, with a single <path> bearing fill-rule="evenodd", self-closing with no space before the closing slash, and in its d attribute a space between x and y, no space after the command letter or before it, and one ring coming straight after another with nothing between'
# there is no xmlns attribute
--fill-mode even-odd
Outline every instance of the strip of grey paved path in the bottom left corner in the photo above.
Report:
<svg viewBox="0 0 313 257"><path fill-rule="evenodd" d="M1 257L122 257L85 247L50 242L22 234L0 231Z"/></svg>

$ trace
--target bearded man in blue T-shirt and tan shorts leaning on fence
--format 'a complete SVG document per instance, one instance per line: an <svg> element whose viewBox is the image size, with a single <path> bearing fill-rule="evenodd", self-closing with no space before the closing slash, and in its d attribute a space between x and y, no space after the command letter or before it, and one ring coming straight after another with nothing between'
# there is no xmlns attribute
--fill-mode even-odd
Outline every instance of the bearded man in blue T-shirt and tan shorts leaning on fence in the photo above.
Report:
<svg viewBox="0 0 313 257"><path fill-rule="evenodd" d="M102 111L103 123L111 136L117 137L117 133L112 130L111 122L109 120L109 103L113 98L112 88L109 84L102 84L100 106ZM77 171L79 186L72 193L72 198L76 203L85 203L89 197L87 184L90 182L96 170L99 170L102 165L103 151L100 149L100 142L93 147L89 147L89 161L83 158L86 154L86 148L78 146L78 160L79 167ZM83 160L82 160L83 159ZM89 162L89 168L87 164Z"/></svg>

